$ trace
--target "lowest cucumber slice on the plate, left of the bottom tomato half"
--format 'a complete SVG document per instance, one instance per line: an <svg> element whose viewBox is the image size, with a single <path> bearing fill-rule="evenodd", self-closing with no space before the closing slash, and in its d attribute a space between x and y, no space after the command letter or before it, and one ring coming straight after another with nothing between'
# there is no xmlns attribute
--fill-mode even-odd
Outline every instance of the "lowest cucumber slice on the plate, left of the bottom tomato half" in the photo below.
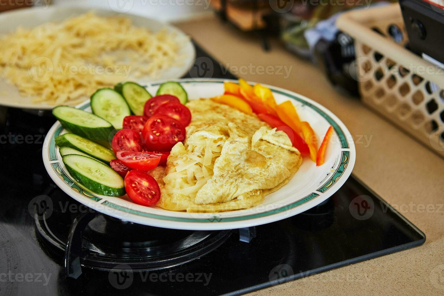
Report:
<svg viewBox="0 0 444 296"><path fill-rule="evenodd" d="M62 158L71 176L87 189L107 196L125 194L125 184L115 170L93 158L69 154Z"/></svg>

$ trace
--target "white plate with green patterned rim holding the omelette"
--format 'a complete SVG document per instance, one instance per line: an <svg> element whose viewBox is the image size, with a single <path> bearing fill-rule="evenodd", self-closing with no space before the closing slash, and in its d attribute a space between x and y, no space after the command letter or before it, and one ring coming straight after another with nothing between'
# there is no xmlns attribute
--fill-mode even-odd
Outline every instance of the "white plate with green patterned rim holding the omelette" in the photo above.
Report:
<svg viewBox="0 0 444 296"><path fill-rule="evenodd" d="M223 93L224 79L178 79L189 99L209 98ZM152 83L148 91L155 93L161 82ZM325 163L316 166L304 158L301 167L287 185L265 197L265 201L251 209L223 213L174 212L159 207L146 207L125 197L107 197L83 189L67 172L54 138L63 134L59 122L49 130L43 147L43 161L52 180L75 200L107 215L139 224L173 229L216 230L235 229L261 225L304 212L318 205L341 187L349 178L356 158L353 138L345 125L329 110L311 99L268 86L277 103L290 100L301 120L308 121L315 133L323 138L330 125L333 136L327 147ZM89 102L78 106L90 111Z"/></svg>

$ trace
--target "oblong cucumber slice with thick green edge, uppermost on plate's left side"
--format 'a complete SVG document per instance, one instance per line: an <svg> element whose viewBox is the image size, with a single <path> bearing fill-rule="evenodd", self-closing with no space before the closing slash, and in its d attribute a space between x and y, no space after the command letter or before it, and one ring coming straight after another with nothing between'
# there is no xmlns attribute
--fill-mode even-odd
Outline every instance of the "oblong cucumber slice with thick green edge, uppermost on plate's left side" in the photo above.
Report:
<svg viewBox="0 0 444 296"><path fill-rule="evenodd" d="M52 114L64 128L91 140L108 140L114 131L106 120L73 107L58 106L52 109Z"/></svg>

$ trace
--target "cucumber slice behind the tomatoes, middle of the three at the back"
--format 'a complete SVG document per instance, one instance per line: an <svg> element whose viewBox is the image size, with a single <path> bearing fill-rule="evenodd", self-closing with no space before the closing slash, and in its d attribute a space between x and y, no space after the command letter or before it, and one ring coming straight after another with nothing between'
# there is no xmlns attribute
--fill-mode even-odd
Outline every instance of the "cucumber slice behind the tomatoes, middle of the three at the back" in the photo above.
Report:
<svg viewBox="0 0 444 296"><path fill-rule="evenodd" d="M114 90L123 95L125 101L131 111L136 115L143 115L143 107L148 99L151 98L151 94L135 82L123 82L114 87Z"/></svg>

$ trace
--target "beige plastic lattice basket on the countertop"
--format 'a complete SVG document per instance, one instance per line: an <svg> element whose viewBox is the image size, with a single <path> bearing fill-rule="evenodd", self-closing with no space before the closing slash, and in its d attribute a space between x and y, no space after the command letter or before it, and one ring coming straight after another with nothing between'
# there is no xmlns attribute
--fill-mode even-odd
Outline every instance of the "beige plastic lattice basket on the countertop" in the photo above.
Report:
<svg viewBox="0 0 444 296"><path fill-rule="evenodd" d="M444 157L444 69L404 48L399 4L346 12L337 26L355 39L350 71L363 102Z"/></svg>

